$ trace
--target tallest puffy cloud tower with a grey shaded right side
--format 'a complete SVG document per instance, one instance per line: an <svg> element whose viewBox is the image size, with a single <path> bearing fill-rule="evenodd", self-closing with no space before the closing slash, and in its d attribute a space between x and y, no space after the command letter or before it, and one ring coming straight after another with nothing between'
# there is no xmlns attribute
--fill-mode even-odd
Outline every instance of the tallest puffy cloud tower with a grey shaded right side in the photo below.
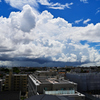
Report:
<svg viewBox="0 0 100 100"><path fill-rule="evenodd" d="M29 5L25 5L21 13L12 12L10 18L12 27L24 32L29 32L35 27L35 14Z"/></svg>

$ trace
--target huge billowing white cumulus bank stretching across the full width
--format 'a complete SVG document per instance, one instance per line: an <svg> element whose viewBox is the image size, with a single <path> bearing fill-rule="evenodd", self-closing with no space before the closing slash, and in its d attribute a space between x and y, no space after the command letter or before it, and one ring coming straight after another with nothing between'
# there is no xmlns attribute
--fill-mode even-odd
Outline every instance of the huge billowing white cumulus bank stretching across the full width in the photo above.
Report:
<svg viewBox="0 0 100 100"><path fill-rule="evenodd" d="M21 12L12 12L9 18L0 17L0 59L99 63L99 52L80 43L81 40L100 42L99 31L100 23L73 27L46 10L35 15L26 5Z"/></svg>

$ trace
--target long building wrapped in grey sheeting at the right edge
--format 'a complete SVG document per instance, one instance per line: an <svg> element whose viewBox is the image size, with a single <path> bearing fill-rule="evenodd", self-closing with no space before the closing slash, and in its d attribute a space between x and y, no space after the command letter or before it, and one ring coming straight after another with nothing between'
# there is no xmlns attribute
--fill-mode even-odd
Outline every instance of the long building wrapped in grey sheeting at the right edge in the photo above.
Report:
<svg viewBox="0 0 100 100"><path fill-rule="evenodd" d="M66 78L78 84L78 91L100 93L100 73L67 73Z"/></svg>

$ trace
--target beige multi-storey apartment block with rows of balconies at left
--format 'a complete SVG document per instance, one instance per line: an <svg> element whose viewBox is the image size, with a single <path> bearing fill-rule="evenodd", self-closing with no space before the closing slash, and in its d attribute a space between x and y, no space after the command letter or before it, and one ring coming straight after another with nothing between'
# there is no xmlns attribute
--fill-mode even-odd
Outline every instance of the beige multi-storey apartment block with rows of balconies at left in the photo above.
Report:
<svg viewBox="0 0 100 100"><path fill-rule="evenodd" d="M5 91L27 92L27 74L13 74L10 71L5 78Z"/></svg>

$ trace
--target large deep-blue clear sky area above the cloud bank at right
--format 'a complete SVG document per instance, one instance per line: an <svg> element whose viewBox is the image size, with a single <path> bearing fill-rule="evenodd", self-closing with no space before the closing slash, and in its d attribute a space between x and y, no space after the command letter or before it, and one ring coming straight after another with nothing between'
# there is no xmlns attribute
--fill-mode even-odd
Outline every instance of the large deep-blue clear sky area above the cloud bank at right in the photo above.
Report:
<svg viewBox="0 0 100 100"><path fill-rule="evenodd" d="M84 1L84 0L83 0ZM51 0L51 2L58 2L58 0ZM65 0L59 0L61 4L65 4ZM47 6L39 7L39 11L48 10L51 12L54 17L61 17L67 20L70 23L73 23L73 26L86 26L83 24L84 20L90 19L88 23L98 23L100 22L100 0L88 0L87 2L80 2L80 0L67 0L67 3L73 3L70 8L65 8L62 10L59 9L49 9ZM80 20L79 23L75 23L76 20Z"/></svg>

